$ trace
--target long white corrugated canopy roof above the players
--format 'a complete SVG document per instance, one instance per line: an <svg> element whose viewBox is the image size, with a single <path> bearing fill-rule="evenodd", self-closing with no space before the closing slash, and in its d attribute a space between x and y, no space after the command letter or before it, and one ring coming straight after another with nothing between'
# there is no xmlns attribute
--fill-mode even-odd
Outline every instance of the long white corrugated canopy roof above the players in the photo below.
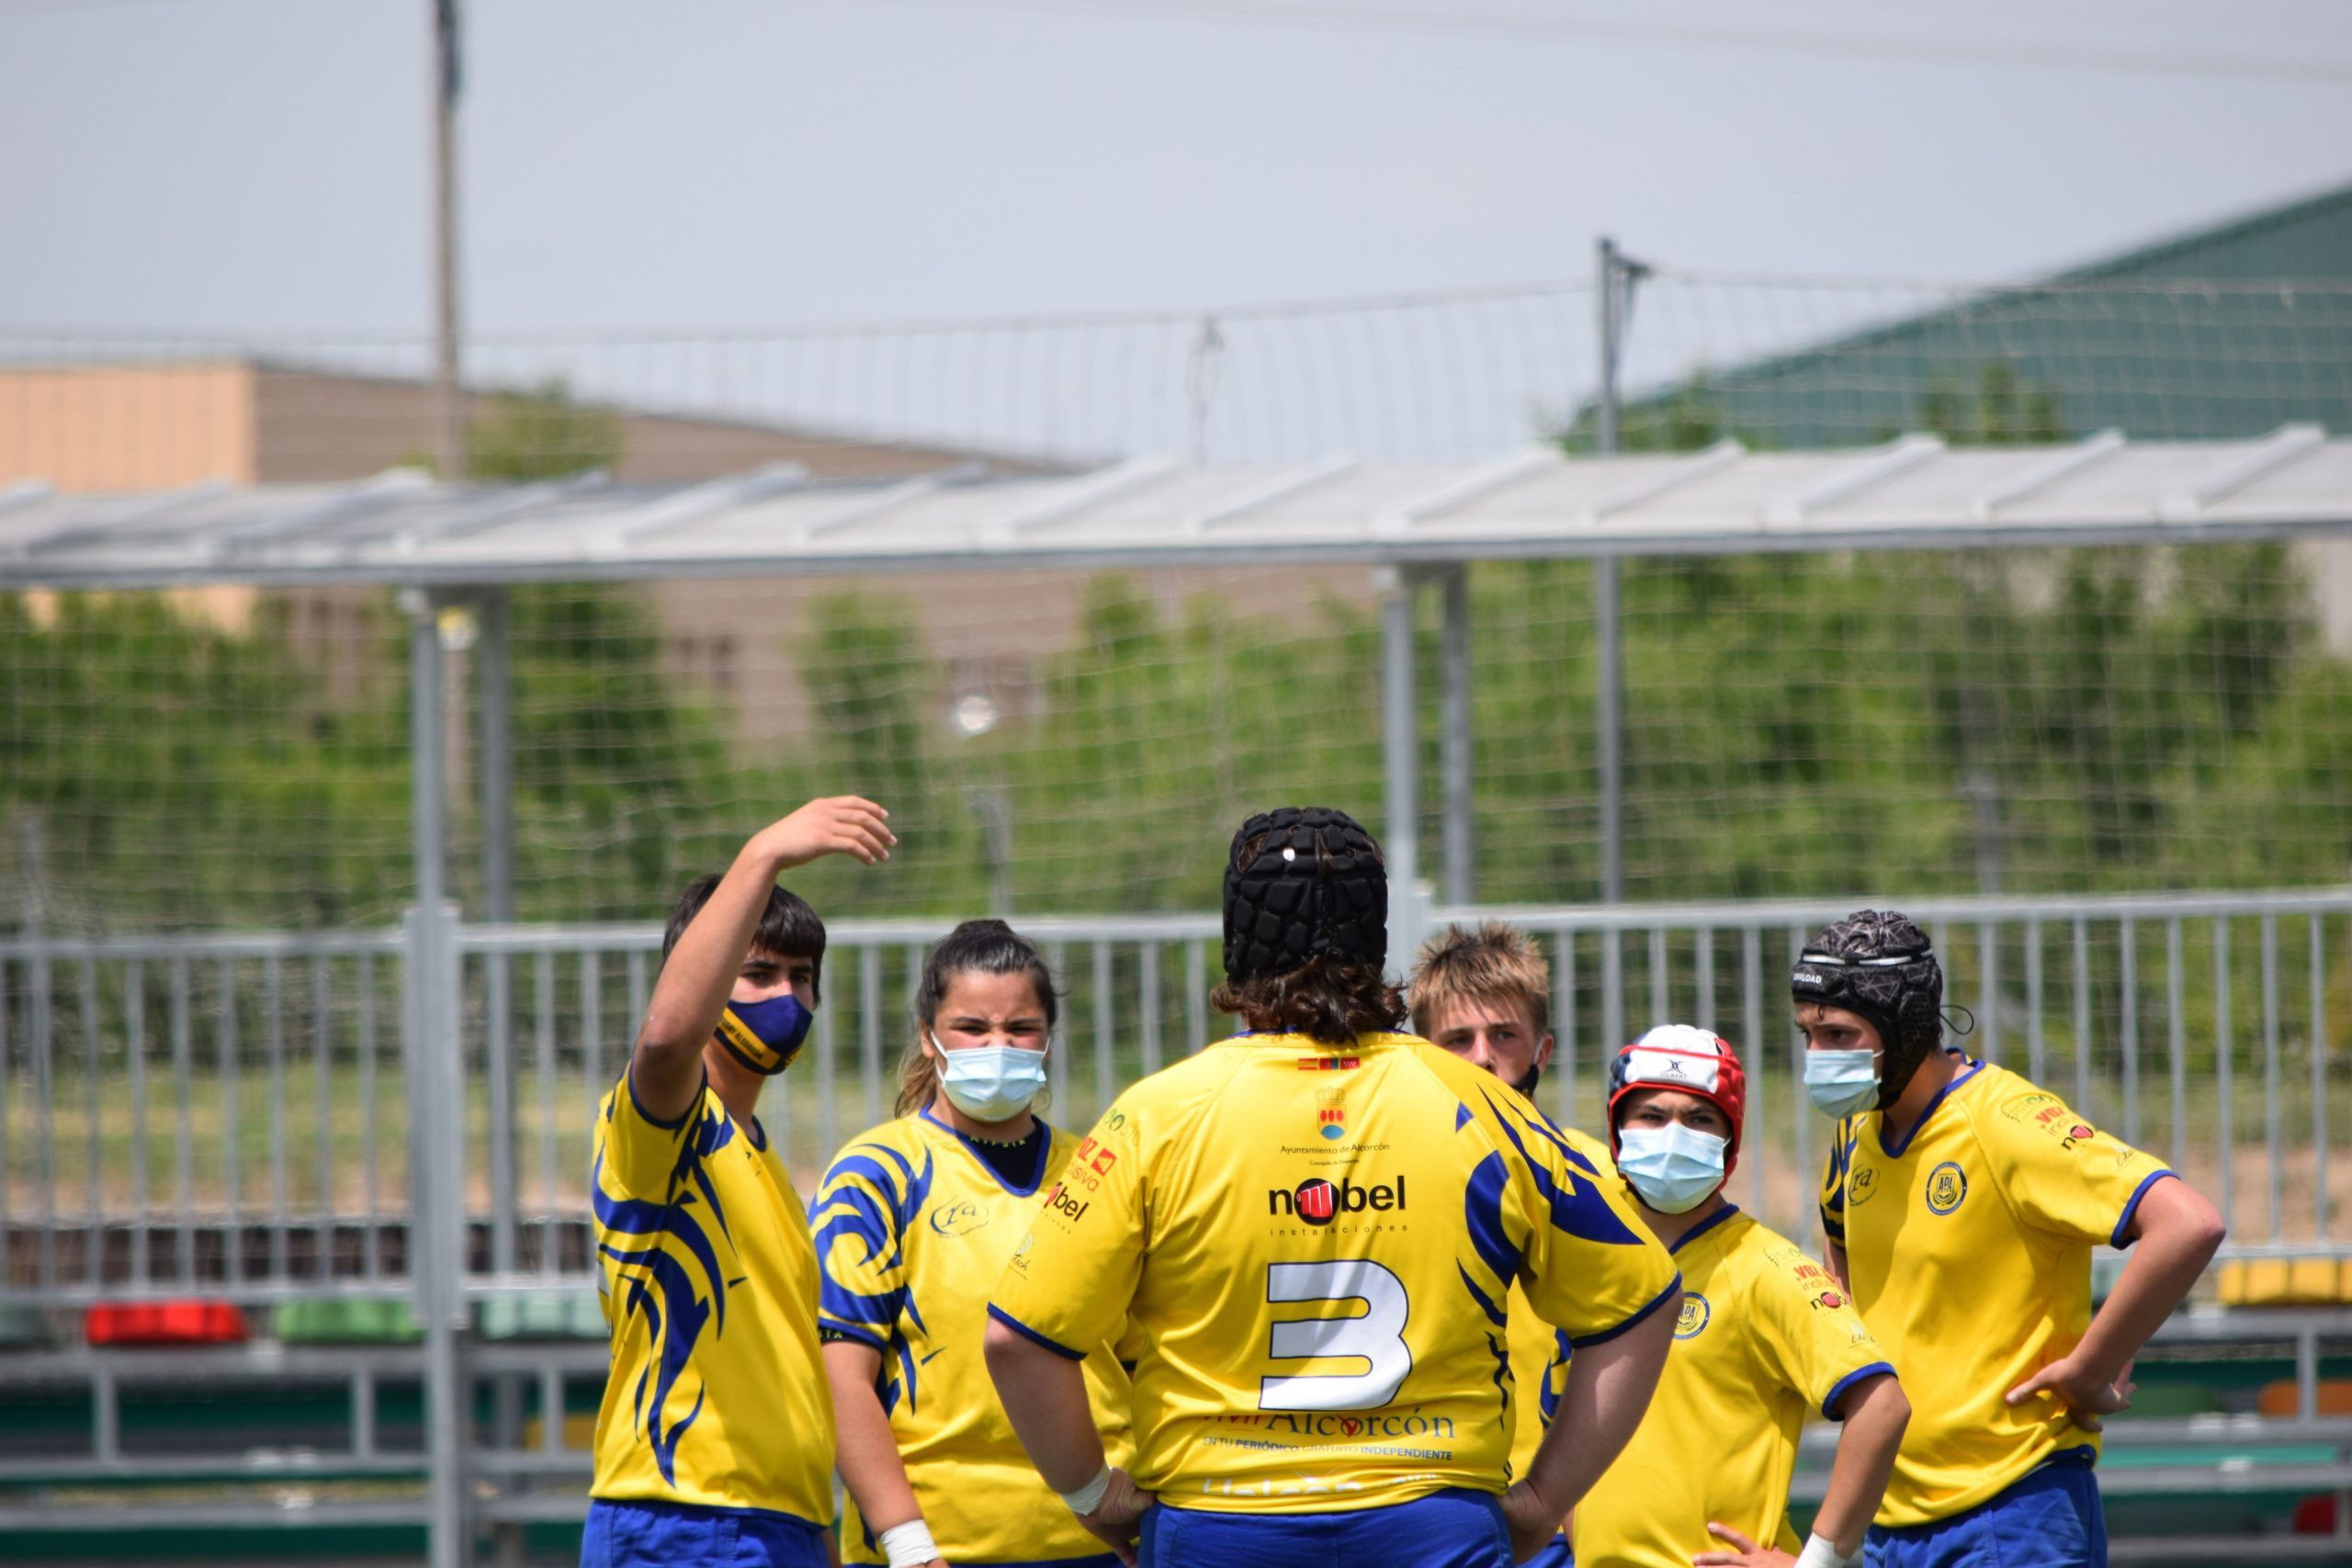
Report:
<svg viewBox="0 0 2352 1568"><path fill-rule="evenodd" d="M0 585L520 583L1235 562L1439 564L1837 548L2190 543L2352 531L2352 440L1837 451L1484 465L1188 468L896 484L764 468L691 487L200 484L139 496L0 489Z"/></svg>

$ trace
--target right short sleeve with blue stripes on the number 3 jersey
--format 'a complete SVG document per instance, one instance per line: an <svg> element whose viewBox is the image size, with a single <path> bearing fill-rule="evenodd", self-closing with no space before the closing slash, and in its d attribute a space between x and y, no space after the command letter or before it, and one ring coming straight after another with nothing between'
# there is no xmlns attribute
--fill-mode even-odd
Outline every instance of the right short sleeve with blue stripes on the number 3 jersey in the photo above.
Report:
<svg viewBox="0 0 2352 1568"><path fill-rule="evenodd" d="M1682 1274L1635 1218L1609 1157L1517 1095L1482 1098L1503 1147L1470 1173L1463 1276L1494 1291L1517 1276L1571 1347L1613 1340L1663 1307Z"/></svg>

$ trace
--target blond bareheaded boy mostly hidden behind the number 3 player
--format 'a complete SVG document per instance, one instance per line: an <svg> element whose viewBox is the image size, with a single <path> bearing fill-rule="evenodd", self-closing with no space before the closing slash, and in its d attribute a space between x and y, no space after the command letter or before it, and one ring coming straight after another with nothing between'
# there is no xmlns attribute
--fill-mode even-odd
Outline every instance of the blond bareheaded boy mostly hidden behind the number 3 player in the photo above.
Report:
<svg viewBox="0 0 2352 1568"><path fill-rule="evenodd" d="M1421 945L1409 987L1414 1034L1484 1067L1522 1095L1534 1098L1545 1063L1552 1060L1552 966L1517 926L1486 922L1477 929L1446 926ZM1595 1168L1606 1150L1573 1128L1559 1133ZM1512 1387L1510 1474L1524 1476L1536 1460L1543 1427L1559 1401L1566 1375L1559 1331L1536 1316L1526 1293L1510 1288L1508 1345ZM1569 1537L1555 1530L1550 1544L1522 1568L1566 1568Z"/></svg>

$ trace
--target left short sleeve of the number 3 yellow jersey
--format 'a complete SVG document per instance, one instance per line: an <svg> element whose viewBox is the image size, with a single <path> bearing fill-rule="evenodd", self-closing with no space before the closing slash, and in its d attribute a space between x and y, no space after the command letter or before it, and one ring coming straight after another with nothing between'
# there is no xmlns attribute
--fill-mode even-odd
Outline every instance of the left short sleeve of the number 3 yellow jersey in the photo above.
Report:
<svg viewBox="0 0 2352 1568"><path fill-rule="evenodd" d="M1143 1114L1124 1098L1103 1112L988 1300L988 1316L1073 1361L1120 1333L1136 1298L1150 1227Z"/></svg>

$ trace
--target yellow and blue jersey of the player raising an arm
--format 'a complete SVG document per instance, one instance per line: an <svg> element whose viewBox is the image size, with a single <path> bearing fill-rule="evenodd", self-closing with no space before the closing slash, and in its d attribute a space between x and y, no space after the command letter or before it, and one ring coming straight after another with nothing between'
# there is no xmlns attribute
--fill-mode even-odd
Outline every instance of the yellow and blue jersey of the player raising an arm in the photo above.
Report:
<svg viewBox="0 0 2352 1568"><path fill-rule="evenodd" d="M809 1220L760 1121L708 1086L675 1124L621 1084L590 1182L612 1371L593 1497L833 1519Z"/></svg>

